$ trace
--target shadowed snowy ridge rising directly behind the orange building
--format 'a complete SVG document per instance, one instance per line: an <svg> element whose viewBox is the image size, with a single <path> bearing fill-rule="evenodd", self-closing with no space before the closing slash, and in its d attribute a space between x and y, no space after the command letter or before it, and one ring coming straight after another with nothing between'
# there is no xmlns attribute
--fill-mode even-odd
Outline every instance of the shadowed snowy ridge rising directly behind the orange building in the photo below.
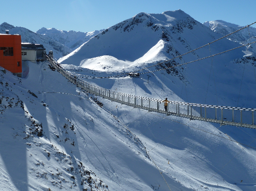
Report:
<svg viewBox="0 0 256 191"><path fill-rule="evenodd" d="M72 49L66 47L65 45L49 38L39 33L34 33L23 27L14 27L6 22L0 25L0 33L6 33L6 30L9 30L10 34L19 34L21 35L22 42L42 44L46 49L46 53L50 50L53 51L54 57L59 59L72 52Z"/></svg>

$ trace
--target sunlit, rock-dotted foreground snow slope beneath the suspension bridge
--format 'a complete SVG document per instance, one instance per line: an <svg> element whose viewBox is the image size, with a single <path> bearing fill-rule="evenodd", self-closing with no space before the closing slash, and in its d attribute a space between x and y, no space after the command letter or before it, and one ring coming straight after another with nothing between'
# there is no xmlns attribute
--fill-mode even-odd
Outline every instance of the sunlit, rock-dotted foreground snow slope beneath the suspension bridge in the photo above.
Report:
<svg viewBox="0 0 256 191"><path fill-rule="evenodd" d="M97 98L121 123L48 64L23 63L22 79L0 74L4 190L255 189L256 151L228 140L256 147L254 129L216 129ZM142 84L126 77L113 88L142 94ZM148 85L160 92L157 81Z"/></svg>

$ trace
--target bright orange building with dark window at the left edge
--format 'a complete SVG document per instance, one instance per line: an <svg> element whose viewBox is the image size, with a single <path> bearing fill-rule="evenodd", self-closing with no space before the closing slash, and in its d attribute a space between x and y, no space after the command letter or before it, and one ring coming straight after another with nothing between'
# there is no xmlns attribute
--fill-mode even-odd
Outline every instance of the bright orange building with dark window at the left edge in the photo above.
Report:
<svg viewBox="0 0 256 191"><path fill-rule="evenodd" d="M0 34L0 66L21 76L21 36Z"/></svg>

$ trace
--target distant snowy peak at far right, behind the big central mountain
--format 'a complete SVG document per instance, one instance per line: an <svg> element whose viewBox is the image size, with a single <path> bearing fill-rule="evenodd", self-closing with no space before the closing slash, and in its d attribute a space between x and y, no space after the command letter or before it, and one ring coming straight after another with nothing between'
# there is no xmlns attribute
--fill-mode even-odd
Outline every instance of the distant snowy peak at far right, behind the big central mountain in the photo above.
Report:
<svg viewBox="0 0 256 191"><path fill-rule="evenodd" d="M238 26L236 24L232 24L229 22L225 22L222 20L207 21L207 22L204 22L204 25L209 27L212 31L220 33L223 36L228 35L244 27L244 26ZM242 43L244 41L247 41L251 37L256 37L256 28L249 26L249 28L246 28L245 30L241 30L237 33L229 35L228 39Z"/></svg>

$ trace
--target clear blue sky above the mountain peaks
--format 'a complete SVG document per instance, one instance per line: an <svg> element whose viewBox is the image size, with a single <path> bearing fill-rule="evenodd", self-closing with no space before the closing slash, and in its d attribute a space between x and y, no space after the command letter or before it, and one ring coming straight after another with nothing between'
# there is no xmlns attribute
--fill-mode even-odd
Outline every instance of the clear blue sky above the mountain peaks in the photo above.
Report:
<svg viewBox="0 0 256 191"><path fill-rule="evenodd" d="M256 21L255 8L256 0L1 0L0 24L7 22L33 32L42 27L91 32L140 12L181 9L201 23L224 20L246 26Z"/></svg>

